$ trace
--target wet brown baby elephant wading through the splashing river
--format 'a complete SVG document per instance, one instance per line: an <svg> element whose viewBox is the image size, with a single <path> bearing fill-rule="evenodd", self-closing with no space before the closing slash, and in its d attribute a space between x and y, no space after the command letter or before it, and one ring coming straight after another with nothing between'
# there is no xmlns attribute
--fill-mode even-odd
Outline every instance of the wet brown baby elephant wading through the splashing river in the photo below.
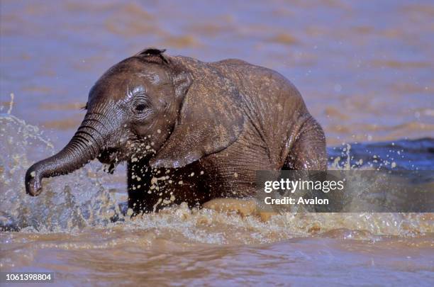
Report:
<svg viewBox="0 0 434 287"><path fill-rule="evenodd" d="M28 169L28 194L95 158L128 162L134 214L253 196L257 170L327 168L323 130L281 74L164 52L143 50L96 81L71 141Z"/></svg>

